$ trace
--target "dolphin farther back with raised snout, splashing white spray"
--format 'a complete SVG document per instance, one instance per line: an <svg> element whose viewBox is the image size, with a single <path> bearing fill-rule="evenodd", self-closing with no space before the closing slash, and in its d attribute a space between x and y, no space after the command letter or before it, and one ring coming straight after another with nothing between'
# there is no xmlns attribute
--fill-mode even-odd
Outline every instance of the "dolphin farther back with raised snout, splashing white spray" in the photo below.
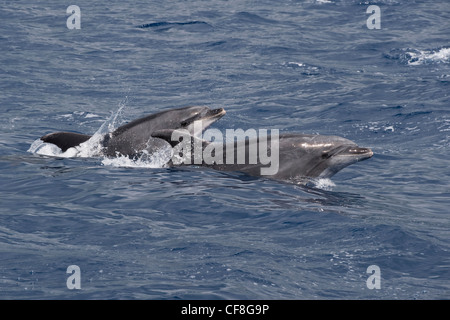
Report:
<svg viewBox="0 0 450 320"><path fill-rule="evenodd" d="M225 115L223 108L210 109L206 106L191 106L161 111L131 121L115 131L104 135L101 139L103 153L108 157L118 155L136 157L143 150L153 152L166 144L165 141L152 138L152 133L161 129L185 129L192 136L201 135L202 131ZM203 127L199 129L194 122L201 120ZM197 130L197 131L196 131ZM54 132L42 136L46 143L58 146L63 152L79 146L92 136L74 132Z"/></svg>

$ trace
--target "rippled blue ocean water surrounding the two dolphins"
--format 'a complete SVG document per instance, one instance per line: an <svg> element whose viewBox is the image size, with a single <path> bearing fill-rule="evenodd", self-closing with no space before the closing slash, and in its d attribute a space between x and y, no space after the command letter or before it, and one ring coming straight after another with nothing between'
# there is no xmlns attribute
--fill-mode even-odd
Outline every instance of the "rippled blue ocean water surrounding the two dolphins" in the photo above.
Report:
<svg viewBox="0 0 450 320"><path fill-rule="evenodd" d="M73 4L0 5L0 299L449 298L448 1ZM375 155L305 187L29 151L188 105Z"/></svg>

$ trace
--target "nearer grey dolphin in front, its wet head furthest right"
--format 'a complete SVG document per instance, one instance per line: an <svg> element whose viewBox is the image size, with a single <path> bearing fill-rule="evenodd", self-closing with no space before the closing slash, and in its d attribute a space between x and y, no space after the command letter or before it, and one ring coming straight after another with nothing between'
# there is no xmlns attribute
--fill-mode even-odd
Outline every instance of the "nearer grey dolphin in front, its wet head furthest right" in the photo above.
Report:
<svg viewBox="0 0 450 320"><path fill-rule="evenodd" d="M176 147L180 141L179 139L173 140L174 133L179 133L177 136L182 136L180 130L172 129L156 131L152 136L164 139L172 147ZM261 152L257 153L256 161L250 160L250 152L261 147L261 137L245 140L245 160L241 160L241 163L237 159L239 152L237 141L225 145L216 143L216 147L214 147L215 142L210 143L192 135L190 135L190 138L191 159L188 161L189 164L195 163L194 144L198 143L201 145L203 152L208 148L222 155L219 157L220 161L213 163L207 163L204 159L201 159L201 166L220 171L240 171L251 176L265 176L284 181L307 182L311 178L330 178L343 168L373 156L371 149L361 148L355 142L339 136L285 133L277 135L275 139L269 135L265 137L263 142L263 144L267 142L267 149L264 152L271 153L273 156L276 151L277 157L272 159L272 162L277 162L275 164L276 170L268 170L265 171L265 174L262 174L264 172L262 169L266 168L267 170L268 163L261 158ZM268 143L269 140L270 143ZM234 158L231 158L231 163L228 161L230 159L226 158L226 153L229 150L233 152L234 156ZM173 164L169 163L169 165ZM270 166L273 165L274 163L270 163Z"/></svg>

